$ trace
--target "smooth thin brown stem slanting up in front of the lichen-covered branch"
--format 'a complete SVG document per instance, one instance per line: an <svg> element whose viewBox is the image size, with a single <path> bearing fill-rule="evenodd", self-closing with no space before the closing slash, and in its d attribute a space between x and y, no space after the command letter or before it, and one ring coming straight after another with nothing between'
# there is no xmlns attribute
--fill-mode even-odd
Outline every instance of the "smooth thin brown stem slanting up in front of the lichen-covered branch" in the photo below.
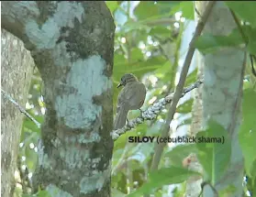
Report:
<svg viewBox="0 0 256 197"><path fill-rule="evenodd" d="M198 38L200 36L201 32L203 31L205 24L206 24L206 20L207 20L208 16L210 15L211 10L215 4L216 4L215 1L208 3L203 16L200 18L200 20L195 28L195 34L189 44L189 49L187 51L187 54L186 54L186 57L184 60L184 66L183 66L183 70L181 72L180 80L176 86L176 89L175 89L175 92L173 95L173 101L172 101L170 110L167 114L166 123L164 124L164 126L162 128L162 133L161 133L162 137L168 137L169 127L170 127L171 121L173 120L173 115L175 114L177 104L183 94L184 82L186 79L186 75L187 75L189 66L191 64L191 60L192 60L194 52L195 52L195 40L196 40L196 38ZM160 159L161 159L161 153L163 151L164 145L165 144L163 144L163 143L156 144L156 150L154 153L154 157L152 160L150 170L157 170Z"/></svg>

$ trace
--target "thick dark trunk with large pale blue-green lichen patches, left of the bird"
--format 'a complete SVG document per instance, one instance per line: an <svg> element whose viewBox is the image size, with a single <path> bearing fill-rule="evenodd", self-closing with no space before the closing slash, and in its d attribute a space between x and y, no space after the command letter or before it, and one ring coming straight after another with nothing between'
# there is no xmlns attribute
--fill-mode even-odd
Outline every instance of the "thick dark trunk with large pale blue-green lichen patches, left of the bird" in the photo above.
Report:
<svg viewBox="0 0 256 197"><path fill-rule="evenodd" d="M2 18L44 82L34 189L110 196L115 24L105 2L3 2Z"/></svg>

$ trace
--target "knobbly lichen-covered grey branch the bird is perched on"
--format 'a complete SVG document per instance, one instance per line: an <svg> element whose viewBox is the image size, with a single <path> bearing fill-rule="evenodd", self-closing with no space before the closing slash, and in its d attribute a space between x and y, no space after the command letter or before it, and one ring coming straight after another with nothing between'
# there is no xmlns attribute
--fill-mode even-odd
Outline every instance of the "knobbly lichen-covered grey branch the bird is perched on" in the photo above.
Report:
<svg viewBox="0 0 256 197"><path fill-rule="evenodd" d="M188 93L193 89L198 88L201 83L203 83L202 80L199 80L193 83L192 85L190 85L189 87L184 88L184 91L181 94L181 97L183 97L185 93ZM133 120L130 120L126 126L111 132L112 138L114 140L117 140L118 137L125 134L128 130L131 130L133 127L138 126L139 124L142 124L145 120L152 120L156 118L157 115L161 113L161 109L166 104L170 104L172 101L173 101L173 93L169 94L165 98L161 98L158 102L150 105L149 108L146 111L142 112L142 114L139 117Z"/></svg>

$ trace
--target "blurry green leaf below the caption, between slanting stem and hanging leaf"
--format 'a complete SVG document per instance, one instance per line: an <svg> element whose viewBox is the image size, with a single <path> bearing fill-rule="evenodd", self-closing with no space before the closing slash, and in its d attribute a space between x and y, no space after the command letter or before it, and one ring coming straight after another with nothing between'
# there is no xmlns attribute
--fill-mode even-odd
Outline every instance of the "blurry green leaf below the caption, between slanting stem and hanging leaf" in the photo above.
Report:
<svg viewBox="0 0 256 197"><path fill-rule="evenodd" d="M195 144L178 145L172 150L166 152L165 157L171 159L174 166L182 166L184 158L189 156L189 154L192 152L197 152Z"/></svg>

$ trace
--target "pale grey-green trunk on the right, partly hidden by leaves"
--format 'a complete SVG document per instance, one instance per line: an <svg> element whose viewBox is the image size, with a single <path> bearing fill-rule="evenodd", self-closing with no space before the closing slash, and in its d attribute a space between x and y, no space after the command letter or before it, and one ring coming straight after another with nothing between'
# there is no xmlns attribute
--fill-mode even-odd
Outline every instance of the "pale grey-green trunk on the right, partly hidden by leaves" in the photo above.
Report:
<svg viewBox="0 0 256 197"><path fill-rule="evenodd" d="M208 2L195 2L195 8L202 16ZM214 36L227 36L236 27L235 21L224 2L217 2L206 22L204 33ZM228 130L231 138L231 159L229 168L222 179L214 187L217 192L234 186L235 192L227 191L225 196L240 197L242 195L243 157L239 147L239 125L241 118L241 97L244 72L245 53L243 49L223 48L215 53L203 56L197 54L200 68L204 75L204 86L198 89L198 98L202 97L202 106L198 106L199 114L196 121L201 122L200 127L206 127L208 118L217 121ZM201 71L201 69L199 70ZM199 74L200 75L200 74ZM201 111L202 110L202 111ZM197 123L195 123L197 124ZM195 128L198 129L198 125ZM191 193L187 193L191 194ZM214 196L213 190L206 185L204 196ZM195 196L195 195L190 195Z"/></svg>

